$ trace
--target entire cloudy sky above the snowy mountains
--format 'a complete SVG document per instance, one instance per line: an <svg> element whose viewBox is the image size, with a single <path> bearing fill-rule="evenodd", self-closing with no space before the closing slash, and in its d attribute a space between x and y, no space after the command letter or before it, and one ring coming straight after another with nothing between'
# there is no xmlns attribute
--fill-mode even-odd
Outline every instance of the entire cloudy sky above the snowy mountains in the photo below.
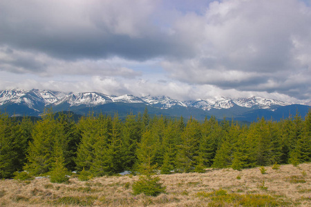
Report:
<svg viewBox="0 0 311 207"><path fill-rule="evenodd" d="M0 90L311 99L311 0L0 0Z"/></svg>

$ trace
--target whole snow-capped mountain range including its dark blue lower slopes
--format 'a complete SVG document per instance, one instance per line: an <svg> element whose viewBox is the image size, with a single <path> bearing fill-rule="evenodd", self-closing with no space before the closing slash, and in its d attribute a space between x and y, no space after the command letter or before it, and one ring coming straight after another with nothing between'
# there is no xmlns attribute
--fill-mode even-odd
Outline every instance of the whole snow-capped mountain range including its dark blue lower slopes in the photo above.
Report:
<svg viewBox="0 0 311 207"><path fill-rule="evenodd" d="M117 112L125 117L129 112L136 114L147 107L152 115L169 117L190 117L202 120L205 117L224 117L239 121L266 119L279 120L299 112L304 117L310 109L310 103L292 104L263 97L243 97L238 99L197 99L179 101L169 97L135 97L133 95L104 95L100 92L59 92L52 90L0 90L0 111L15 116L40 116L45 108L55 112L70 110L78 115L88 112Z"/></svg>

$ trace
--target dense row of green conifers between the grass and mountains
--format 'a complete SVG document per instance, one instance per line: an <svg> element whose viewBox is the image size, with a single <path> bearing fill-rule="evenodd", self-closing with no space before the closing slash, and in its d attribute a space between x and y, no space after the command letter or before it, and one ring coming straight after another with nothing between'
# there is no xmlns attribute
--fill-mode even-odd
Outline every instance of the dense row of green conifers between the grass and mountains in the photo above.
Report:
<svg viewBox="0 0 311 207"><path fill-rule="evenodd" d="M311 110L281 121L264 118L241 126L215 117L197 121L130 113L89 115L75 122L46 110L41 120L0 113L0 178L27 170L48 175L55 169L86 170L93 176L123 170L204 172L205 168L252 168L311 161Z"/></svg>

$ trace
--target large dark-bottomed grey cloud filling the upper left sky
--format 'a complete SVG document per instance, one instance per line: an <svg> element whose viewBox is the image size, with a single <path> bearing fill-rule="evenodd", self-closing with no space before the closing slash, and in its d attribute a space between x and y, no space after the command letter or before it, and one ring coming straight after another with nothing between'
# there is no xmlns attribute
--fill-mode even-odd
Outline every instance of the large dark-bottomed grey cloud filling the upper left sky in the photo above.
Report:
<svg viewBox="0 0 311 207"><path fill-rule="evenodd" d="M0 44L60 59L118 56L146 60L189 54L189 48L157 25L159 3L3 0Z"/></svg>

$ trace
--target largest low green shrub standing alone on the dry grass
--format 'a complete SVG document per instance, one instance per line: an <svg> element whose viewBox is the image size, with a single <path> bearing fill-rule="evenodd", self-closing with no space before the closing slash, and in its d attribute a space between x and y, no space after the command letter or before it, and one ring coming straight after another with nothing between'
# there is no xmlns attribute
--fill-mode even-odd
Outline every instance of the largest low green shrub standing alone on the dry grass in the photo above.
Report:
<svg viewBox="0 0 311 207"><path fill-rule="evenodd" d="M160 177L151 177L151 175L140 176L140 179L132 185L134 195L144 193L144 195L157 196L166 193L166 188L160 183Z"/></svg>

